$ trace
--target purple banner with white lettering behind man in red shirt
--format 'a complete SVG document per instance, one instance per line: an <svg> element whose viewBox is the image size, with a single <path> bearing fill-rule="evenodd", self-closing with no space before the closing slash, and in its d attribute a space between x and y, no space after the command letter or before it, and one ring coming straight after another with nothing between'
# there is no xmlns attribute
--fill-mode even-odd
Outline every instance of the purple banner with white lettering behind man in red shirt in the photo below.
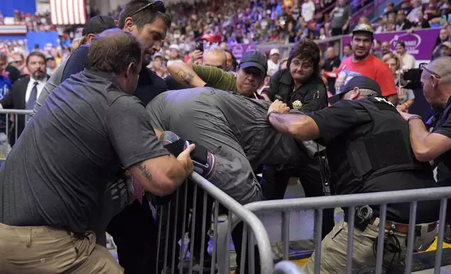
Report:
<svg viewBox="0 0 451 274"><path fill-rule="evenodd" d="M404 42L407 52L415 57L417 60L430 60L433 46L440 29L419 29L413 34L408 34L406 31L394 31L387 34L375 34L375 40L381 42L389 41L391 51L395 51L396 43ZM351 43L351 36L343 37L343 45Z"/></svg>

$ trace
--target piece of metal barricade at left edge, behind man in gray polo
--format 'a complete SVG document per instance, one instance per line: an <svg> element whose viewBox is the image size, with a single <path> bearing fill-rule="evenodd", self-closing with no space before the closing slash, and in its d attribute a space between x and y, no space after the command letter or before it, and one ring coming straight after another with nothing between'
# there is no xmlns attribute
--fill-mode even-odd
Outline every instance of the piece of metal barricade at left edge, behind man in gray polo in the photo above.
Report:
<svg viewBox="0 0 451 274"><path fill-rule="evenodd" d="M32 112L32 110L0 110L0 124L4 125L4 129L0 129L0 165L8 157L11 146L18 140Z"/></svg>

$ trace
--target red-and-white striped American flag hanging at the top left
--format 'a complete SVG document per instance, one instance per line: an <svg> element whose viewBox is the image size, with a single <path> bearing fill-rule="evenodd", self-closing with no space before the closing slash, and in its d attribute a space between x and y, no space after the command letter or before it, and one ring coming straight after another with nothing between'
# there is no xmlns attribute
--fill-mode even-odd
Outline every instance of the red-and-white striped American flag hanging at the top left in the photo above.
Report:
<svg viewBox="0 0 451 274"><path fill-rule="evenodd" d="M85 0L50 0L52 24L85 24Z"/></svg>

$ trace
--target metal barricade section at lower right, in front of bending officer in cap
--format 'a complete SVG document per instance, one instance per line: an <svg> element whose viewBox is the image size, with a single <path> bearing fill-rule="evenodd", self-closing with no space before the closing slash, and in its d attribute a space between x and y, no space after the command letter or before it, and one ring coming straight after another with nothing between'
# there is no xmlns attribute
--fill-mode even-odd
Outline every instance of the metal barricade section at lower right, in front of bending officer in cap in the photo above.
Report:
<svg viewBox="0 0 451 274"><path fill-rule="evenodd" d="M356 224L356 210L357 207L362 206L379 206L379 214L376 215L379 219L377 225L378 232L377 238L374 240L375 250L375 266L369 265L368 267L374 268L375 273L382 273L384 256L384 240L389 231L386 229L387 222L394 225L394 221L387 219L387 205L399 203L408 203L410 208L409 215L409 228L407 238L405 239L406 245L403 246L403 255L401 259L403 262L401 267L405 270L402 272L392 273L411 273L412 272L412 254L414 253L414 245L417 248L417 241L420 240L417 235L417 229L419 224L416 222L417 217L417 204L422 201L440 201L440 213L438 215L438 237L436 240L436 257L434 264L434 273L440 273L442 249L443 249L443 234L445 230L445 215L447 207L447 199L451 198L451 187L436 187L429 189L410 189L403 191L393 192L375 192L368 194L349 194L349 195L337 195L337 196L323 196L323 197L311 197L301 199L284 199L274 201L259 201L249 203L244 207L254 212L263 222L265 228L268 231L271 243L283 243L283 259L287 260L289 255L289 242L296 240L310 240L314 238L315 250L321 250L321 229L323 222L323 210L328 208L343 208L347 210L347 217L345 224L347 224L347 250L346 250L346 269L337 269L338 273L355 273L356 269L353 268L353 248L354 248L354 224ZM434 214L436 212L431 212ZM226 222L232 229L236 226L239 220L236 217L228 219ZM360 222L360 221L359 221ZM433 227L433 238L436 236L437 226L435 221L432 221L427 227ZM336 224L335 224L336 225ZM374 223L376 226L376 222ZM400 224L398 224L400 225ZM312 229L314 227L314 229ZM424 226L421 226L423 229ZM282 233L281 233L282 231ZM430 232L430 231L428 231ZM399 234L396 234L399 235ZM225 243L227 236L225 231L219 231L218 233L218 245ZM415 240L415 242L414 242ZM433 240L431 241L431 243ZM431 243L424 244L423 247L429 247ZM405 248L404 248L405 247ZM416 250L419 251L419 250ZM421 250L423 251L423 250ZM355 254L355 253L354 253ZM221 258L218 254L218 258ZM321 252L314 252L314 273L320 273L321 267ZM218 264L225 264L225 262L218 261ZM399 268L398 270L399 271ZM225 272L224 272L225 273ZM373 273L373 272L368 272Z"/></svg>

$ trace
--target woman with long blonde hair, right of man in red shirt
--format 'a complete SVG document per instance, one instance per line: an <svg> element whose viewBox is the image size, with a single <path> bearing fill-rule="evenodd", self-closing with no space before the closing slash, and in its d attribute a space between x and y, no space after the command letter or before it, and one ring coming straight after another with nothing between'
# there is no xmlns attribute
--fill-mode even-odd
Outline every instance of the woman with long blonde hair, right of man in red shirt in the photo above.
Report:
<svg viewBox="0 0 451 274"><path fill-rule="evenodd" d="M382 61L389 66L395 78L396 91L398 92L398 106L396 108L408 113L409 108L415 101L415 94L412 89L405 89L408 82L403 79L401 60L394 53L387 53L382 57Z"/></svg>

